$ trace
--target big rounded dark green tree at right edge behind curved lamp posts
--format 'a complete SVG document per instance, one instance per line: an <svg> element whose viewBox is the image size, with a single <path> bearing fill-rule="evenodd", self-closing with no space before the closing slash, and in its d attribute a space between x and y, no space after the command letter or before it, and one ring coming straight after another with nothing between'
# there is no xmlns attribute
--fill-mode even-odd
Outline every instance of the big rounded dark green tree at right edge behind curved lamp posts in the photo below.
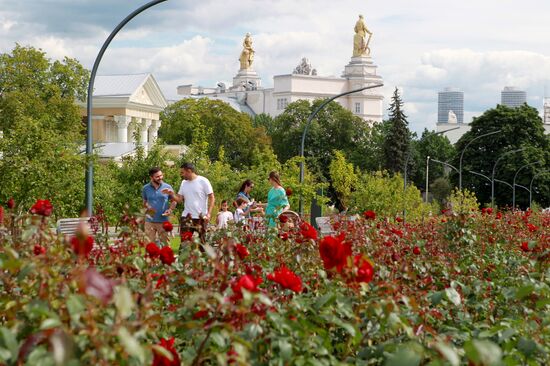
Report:
<svg viewBox="0 0 550 366"><path fill-rule="evenodd" d="M542 119L538 111L528 105L509 108L498 105L489 109L481 116L474 118L471 129L456 144L457 152L461 152L472 139L488 132L501 130L501 133L477 139L466 149L462 166L462 187L475 192L480 203L491 202L491 184L486 179L468 173L475 171L491 176L495 161L505 152L525 148L525 150L510 154L501 160L496 169L496 178L513 182L516 171L523 165L541 161L539 165L524 168L518 175L516 184L528 186L536 172L548 169L550 165L550 138L544 135ZM458 154L453 165L459 165ZM458 174L452 176L453 183L458 185ZM550 173L537 178L538 190L533 195L543 207L550 205ZM495 199L499 206L511 205L511 188L495 183ZM516 189L516 204L527 207L528 192Z"/></svg>

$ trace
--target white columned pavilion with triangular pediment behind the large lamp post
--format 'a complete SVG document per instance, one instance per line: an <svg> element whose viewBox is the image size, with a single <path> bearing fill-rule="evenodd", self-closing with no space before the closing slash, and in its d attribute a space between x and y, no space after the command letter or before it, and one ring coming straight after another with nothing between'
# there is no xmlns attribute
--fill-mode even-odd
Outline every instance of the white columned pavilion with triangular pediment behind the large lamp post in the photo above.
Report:
<svg viewBox="0 0 550 366"><path fill-rule="evenodd" d="M151 74L98 75L94 83L93 143L100 158L120 160L157 138L168 105ZM83 118L86 104L81 103Z"/></svg>

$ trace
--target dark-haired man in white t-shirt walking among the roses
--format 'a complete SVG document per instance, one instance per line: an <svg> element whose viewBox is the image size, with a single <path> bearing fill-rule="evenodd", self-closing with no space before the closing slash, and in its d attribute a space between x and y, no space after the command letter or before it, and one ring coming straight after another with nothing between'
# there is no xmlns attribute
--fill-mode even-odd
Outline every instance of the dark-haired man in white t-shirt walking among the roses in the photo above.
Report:
<svg viewBox="0 0 550 366"><path fill-rule="evenodd" d="M183 238L186 232L198 232L201 242L205 243L206 227L208 221L210 221L216 200L214 190L208 179L197 175L195 166L191 163L184 163L181 166L180 176L183 181L178 193L166 192L175 202L184 203L180 221L180 234Z"/></svg>

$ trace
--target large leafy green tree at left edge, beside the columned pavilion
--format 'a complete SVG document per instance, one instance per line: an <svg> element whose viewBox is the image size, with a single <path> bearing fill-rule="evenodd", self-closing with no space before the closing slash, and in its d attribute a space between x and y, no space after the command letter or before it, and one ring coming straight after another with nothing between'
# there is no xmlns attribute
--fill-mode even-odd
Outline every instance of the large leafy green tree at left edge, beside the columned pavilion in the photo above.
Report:
<svg viewBox="0 0 550 366"><path fill-rule="evenodd" d="M52 62L16 45L0 55L0 201L21 209L38 198L58 216L75 216L84 202L83 100L88 72L73 59Z"/></svg>

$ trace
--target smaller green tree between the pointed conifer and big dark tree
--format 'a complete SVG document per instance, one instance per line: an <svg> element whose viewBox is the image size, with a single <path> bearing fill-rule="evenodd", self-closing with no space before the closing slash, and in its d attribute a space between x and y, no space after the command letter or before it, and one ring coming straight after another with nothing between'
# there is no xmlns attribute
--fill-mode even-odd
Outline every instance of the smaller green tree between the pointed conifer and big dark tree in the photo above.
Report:
<svg viewBox="0 0 550 366"><path fill-rule="evenodd" d="M414 184L426 189L426 157L441 161L450 161L455 156L455 148L447 136L438 135L434 131L424 129L422 136L412 142L415 151L415 170L411 174ZM428 170L429 182L444 176L444 166L439 163L430 163Z"/></svg>

